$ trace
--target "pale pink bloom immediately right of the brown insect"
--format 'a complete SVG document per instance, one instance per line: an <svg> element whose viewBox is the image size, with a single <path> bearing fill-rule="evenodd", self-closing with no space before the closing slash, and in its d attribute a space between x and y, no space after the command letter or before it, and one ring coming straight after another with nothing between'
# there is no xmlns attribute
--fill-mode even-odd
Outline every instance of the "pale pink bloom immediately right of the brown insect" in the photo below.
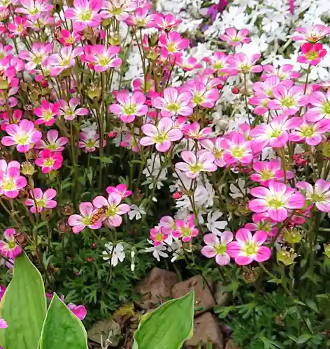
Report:
<svg viewBox="0 0 330 349"><path fill-rule="evenodd" d="M106 214L104 214L102 220L103 224L108 227L119 227L122 224L122 215L131 211L131 208L127 204L121 204L122 195L118 193L110 193L108 199L103 196L96 196L93 200L93 205L100 209L106 206Z"/></svg>

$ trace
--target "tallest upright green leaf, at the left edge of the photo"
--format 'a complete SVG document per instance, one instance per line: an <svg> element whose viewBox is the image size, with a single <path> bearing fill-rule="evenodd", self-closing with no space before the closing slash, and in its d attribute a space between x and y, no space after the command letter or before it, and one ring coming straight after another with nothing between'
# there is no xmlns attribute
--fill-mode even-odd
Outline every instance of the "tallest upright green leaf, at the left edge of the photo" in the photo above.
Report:
<svg viewBox="0 0 330 349"><path fill-rule="evenodd" d="M0 331L6 349L36 349L46 315L43 278L23 252L15 258L13 280L1 299L0 318L8 328Z"/></svg>

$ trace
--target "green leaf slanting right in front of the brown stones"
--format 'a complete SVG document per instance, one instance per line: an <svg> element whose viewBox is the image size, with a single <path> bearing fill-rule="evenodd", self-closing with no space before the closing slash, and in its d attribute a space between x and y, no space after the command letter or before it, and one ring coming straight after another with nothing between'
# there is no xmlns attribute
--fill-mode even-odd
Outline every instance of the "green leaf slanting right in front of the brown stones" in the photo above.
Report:
<svg viewBox="0 0 330 349"><path fill-rule="evenodd" d="M134 333L134 349L179 349L192 336L194 291L143 315Z"/></svg>

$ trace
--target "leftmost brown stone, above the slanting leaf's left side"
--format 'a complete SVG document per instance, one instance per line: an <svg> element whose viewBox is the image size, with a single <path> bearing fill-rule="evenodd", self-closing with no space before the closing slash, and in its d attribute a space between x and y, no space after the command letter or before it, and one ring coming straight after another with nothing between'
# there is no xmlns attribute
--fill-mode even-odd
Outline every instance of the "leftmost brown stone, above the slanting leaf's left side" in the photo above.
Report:
<svg viewBox="0 0 330 349"><path fill-rule="evenodd" d="M154 268L138 285L138 292L143 296L138 305L142 309L154 309L160 300L171 298L171 289L178 282L178 276L165 269Z"/></svg>

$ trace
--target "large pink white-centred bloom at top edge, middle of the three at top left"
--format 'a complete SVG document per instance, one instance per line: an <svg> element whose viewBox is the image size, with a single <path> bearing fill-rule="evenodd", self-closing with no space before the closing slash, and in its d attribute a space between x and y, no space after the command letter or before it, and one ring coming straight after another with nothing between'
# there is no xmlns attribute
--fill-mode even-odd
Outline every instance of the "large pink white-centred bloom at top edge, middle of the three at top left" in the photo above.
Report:
<svg viewBox="0 0 330 349"><path fill-rule="evenodd" d="M73 8L68 8L64 17L72 20L73 29L82 31L86 27L98 27L101 24L102 0L74 0Z"/></svg>

